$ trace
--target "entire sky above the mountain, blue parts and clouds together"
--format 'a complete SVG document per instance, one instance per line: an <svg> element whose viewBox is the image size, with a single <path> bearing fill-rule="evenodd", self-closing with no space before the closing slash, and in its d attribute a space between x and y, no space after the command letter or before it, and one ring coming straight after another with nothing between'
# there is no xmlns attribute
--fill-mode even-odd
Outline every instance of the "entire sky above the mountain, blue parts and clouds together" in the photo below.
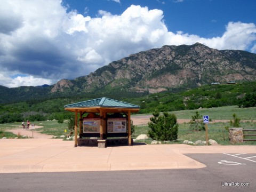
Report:
<svg viewBox="0 0 256 192"><path fill-rule="evenodd" d="M55 84L163 45L256 53L254 0L1 0L0 85Z"/></svg>

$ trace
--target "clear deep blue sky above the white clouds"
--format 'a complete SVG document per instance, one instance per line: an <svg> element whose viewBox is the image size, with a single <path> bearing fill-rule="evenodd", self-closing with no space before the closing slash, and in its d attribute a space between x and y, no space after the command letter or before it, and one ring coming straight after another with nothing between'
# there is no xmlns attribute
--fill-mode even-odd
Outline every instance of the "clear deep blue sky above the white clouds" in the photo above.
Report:
<svg viewBox="0 0 256 192"><path fill-rule="evenodd" d="M118 3L119 2L119 3ZM164 22L170 31L183 31L206 38L221 36L230 21L256 22L253 0L65 0L71 9L83 15L97 17L99 10L122 14L133 5L163 11Z"/></svg>

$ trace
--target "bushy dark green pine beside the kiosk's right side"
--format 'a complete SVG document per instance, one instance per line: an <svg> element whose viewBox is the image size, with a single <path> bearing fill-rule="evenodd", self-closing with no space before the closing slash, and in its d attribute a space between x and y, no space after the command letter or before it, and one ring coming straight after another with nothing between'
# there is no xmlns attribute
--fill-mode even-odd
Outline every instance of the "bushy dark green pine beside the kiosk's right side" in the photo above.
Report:
<svg viewBox="0 0 256 192"><path fill-rule="evenodd" d="M148 123L149 137L154 140L172 141L178 138L177 117L174 114L164 112L160 115L158 111L153 113Z"/></svg>

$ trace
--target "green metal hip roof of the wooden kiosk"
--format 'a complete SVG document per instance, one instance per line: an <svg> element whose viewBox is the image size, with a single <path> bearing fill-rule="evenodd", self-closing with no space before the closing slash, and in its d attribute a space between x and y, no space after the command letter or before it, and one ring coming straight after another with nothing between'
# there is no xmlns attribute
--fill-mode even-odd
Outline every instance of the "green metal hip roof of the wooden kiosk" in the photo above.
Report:
<svg viewBox="0 0 256 192"><path fill-rule="evenodd" d="M82 107L113 107L113 108L137 108L140 106L126 103L123 101L117 101L109 98L98 98L88 101L82 101L64 106L65 108L82 108Z"/></svg>

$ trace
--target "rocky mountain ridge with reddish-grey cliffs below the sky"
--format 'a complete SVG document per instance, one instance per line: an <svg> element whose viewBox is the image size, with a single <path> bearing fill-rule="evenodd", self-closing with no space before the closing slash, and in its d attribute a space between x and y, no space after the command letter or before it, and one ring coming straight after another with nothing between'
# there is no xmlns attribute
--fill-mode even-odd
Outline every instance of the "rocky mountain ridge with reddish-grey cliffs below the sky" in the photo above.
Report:
<svg viewBox="0 0 256 192"><path fill-rule="evenodd" d="M93 73L54 85L0 86L0 103L74 94L156 93L179 87L256 80L256 54L196 43L165 45L113 61ZM28 94L29 93L29 94Z"/></svg>

